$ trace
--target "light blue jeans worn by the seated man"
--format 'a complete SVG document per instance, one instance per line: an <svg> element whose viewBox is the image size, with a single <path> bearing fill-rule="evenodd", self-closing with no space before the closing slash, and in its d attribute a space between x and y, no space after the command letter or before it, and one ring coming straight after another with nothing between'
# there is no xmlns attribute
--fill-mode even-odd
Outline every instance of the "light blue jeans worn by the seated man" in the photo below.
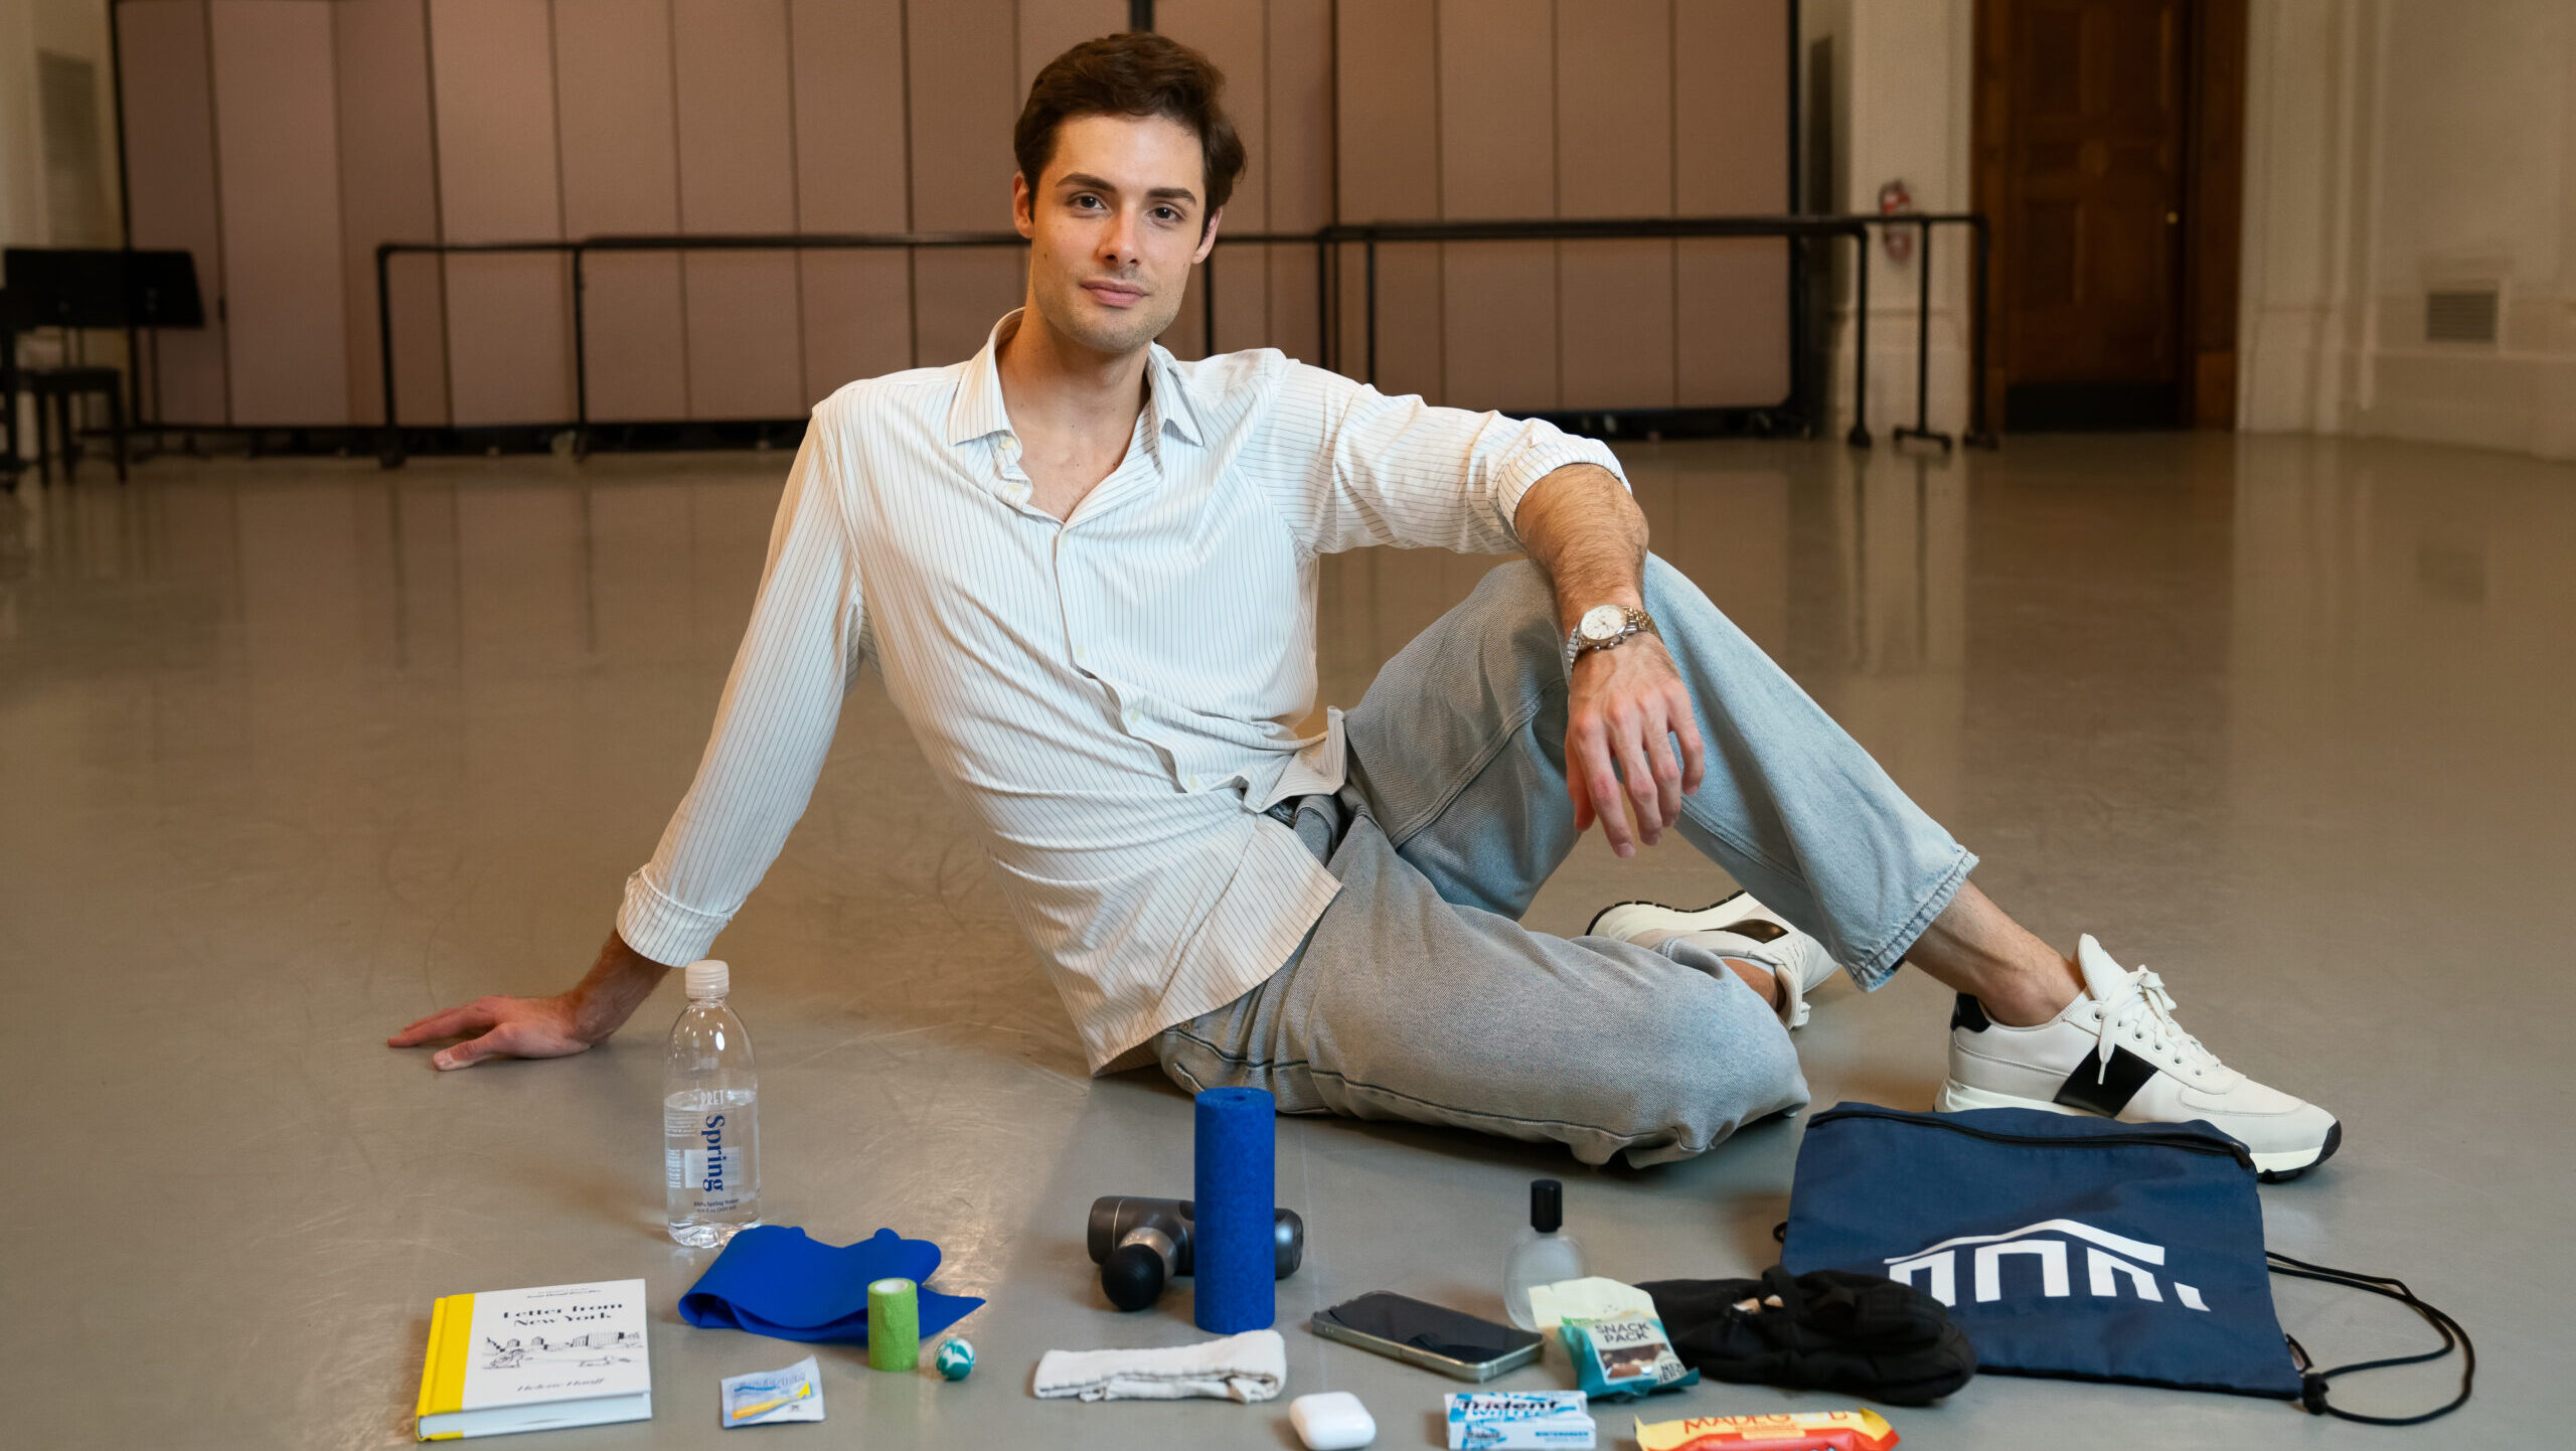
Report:
<svg viewBox="0 0 2576 1451"><path fill-rule="evenodd" d="M1708 747L1677 830L1878 987L1976 858L1654 557L1646 608ZM1520 925L1577 840L1564 644L1535 564L1486 575L1345 727L1342 791L1278 807L1342 894L1267 982L1154 1041L1175 1082L1558 1139L1592 1165L1690 1157L1806 1103L1788 1031L1713 956Z"/></svg>

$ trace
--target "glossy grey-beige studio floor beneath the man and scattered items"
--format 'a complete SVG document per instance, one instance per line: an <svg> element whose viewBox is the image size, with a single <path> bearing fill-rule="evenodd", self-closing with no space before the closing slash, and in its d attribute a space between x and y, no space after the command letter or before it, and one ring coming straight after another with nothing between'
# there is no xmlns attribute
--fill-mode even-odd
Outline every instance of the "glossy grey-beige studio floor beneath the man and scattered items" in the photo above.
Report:
<svg viewBox="0 0 2576 1451"><path fill-rule="evenodd" d="M1772 649L2040 936L2164 974L2184 1026L2316 1098L2342 1155L2264 1188L2272 1247L2409 1278L2478 1338L2478 1397L2416 1430L2280 1402L1984 1376L1891 1412L1909 1448L2545 1446L2576 1389L2576 466L2313 438L2012 438L1963 459L1832 443L1623 448L1654 546ZM569 1448L716 1446L716 1381L804 1348L675 1314L711 1253L662 1232L672 974L574 1059L438 1075L402 1023L590 964L708 727L786 454L157 459L0 497L0 1399L13 1446L397 1446L433 1296L652 1286L654 1420ZM1324 701L1492 559L1332 559ZM1723 889L1597 838L1530 912ZM1288 1389L1260 1407L1056 1405L1048 1348L1195 1340L1118 1314L1100 1193L1190 1193L1190 1100L1090 1080L958 814L873 675L814 804L719 943L760 1054L765 1211L935 1240L963 1384L819 1348L832 1446L1293 1446L1352 1389L1430 1446L1425 1371L1316 1340L1396 1289L1499 1314L1535 1175L1595 1273L1775 1258L1803 1116L1654 1170L1283 1119ZM1945 995L1829 987L1816 1106L1929 1106ZM1605 1062L1620 1046L1602 1044ZM1713 1044L1710 1052L1723 1052ZM2421 1348L2403 1309L2282 1283L2331 1361ZM2455 1361L2339 1387L2450 1394ZM1569 1384L1530 1369L1504 1389ZM1834 1407L1700 1387L1651 1417ZM1625 1446L1628 1412L1602 1415Z"/></svg>

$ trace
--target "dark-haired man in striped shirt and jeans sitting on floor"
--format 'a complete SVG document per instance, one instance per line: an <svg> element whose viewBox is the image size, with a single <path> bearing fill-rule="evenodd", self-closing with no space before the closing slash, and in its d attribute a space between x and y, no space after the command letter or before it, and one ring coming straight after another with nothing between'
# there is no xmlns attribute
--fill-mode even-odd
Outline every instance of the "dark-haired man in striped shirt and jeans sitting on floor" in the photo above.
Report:
<svg viewBox="0 0 2576 1451"><path fill-rule="evenodd" d="M2334 1152L2326 1111L2221 1064L2154 974L2089 936L2058 956L1989 902L1976 858L1646 552L1605 446L1270 348L1157 348L1244 168L1218 85L1151 34L1038 75L1028 302L971 361L814 410L698 778L598 964L397 1046L469 1036L435 1057L466 1067L613 1033L768 871L873 662L1095 1072L1643 1165L1801 1106L1806 995L1911 961L1958 990L1940 1108L2208 1119L2267 1175ZM1298 737L1316 559L1363 544L1528 559ZM1618 856L1677 830L1749 894L1522 928L1595 820Z"/></svg>

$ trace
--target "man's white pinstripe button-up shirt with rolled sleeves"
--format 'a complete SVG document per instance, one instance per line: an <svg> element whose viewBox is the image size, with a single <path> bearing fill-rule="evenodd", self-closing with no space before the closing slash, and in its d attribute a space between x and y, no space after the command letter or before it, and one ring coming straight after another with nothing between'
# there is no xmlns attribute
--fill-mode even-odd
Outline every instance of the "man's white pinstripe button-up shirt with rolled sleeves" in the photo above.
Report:
<svg viewBox="0 0 2576 1451"><path fill-rule="evenodd" d="M814 410L698 778L618 936L703 956L804 814L863 660L1082 1033L1090 1067L1221 1008L1340 884L1267 817L1342 783L1314 711L1316 557L1517 549L1520 497L1610 451L1386 397L1278 351L1151 351L1121 464L1072 518L1030 497L994 353Z"/></svg>

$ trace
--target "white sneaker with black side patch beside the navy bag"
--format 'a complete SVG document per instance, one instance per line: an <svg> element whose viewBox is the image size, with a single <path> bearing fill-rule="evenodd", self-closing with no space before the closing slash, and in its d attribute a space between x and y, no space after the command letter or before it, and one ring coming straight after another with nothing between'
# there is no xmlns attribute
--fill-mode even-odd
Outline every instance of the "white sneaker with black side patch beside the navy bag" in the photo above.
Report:
<svg viewBox="0 0 2576 1451"><path fill-rule="evenodd" d="M2205 1119L2254 1152L2267 1183L2334 1157L2334 1113L2264 1088L2174 1023L2174 1000L2154 972L2128 972L2092 936L2076 943L2084 995L2035 1028L2007 1028L1960 992L1950 1015L1950 1082L1942 1113L2045 1108L2123 1124Z"/></svg>

